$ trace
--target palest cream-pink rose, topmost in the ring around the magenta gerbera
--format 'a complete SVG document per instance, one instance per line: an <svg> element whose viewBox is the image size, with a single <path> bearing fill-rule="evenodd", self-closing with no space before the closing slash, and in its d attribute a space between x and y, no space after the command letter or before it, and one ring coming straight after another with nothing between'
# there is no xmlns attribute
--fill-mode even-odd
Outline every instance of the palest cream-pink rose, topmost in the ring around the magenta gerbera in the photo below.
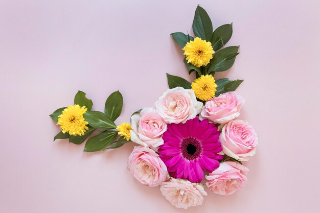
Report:
<svg viewBox="0 0 320 213"><path fill-rule="evenodd" d="M155 103L156 112L166 123L186 123L200 113L203 104L198 102L192 89L167 89Z"/></svg>

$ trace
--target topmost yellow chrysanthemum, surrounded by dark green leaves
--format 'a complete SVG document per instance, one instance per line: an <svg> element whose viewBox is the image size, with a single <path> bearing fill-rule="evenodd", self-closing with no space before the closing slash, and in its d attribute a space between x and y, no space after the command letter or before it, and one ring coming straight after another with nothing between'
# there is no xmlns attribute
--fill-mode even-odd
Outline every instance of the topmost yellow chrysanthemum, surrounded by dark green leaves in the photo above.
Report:
<svg viewBox="0 0 320 213"><path fill-rule="evenodd" d="M196 67L207 66L210 59L212 59L212 54L215 53L211 42L201 40L199 37L195 37L193 41L188 42L182 50L185 51L184 55L188 63Z"/></svg>

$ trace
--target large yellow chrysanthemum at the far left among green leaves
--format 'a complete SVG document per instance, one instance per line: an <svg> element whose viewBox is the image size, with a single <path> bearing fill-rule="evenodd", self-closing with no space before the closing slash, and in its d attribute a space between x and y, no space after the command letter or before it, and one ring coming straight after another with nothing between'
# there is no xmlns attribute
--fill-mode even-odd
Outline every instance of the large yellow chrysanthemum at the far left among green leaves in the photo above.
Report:
<svg viewBox="0 0 320 213"><path fill-rule="evenodd" d="M75 106L68 106L62 111L58 117L58 125L62 129L63 134L69 133L70 135L84 135L84 132L89 128L85 125L89 124L84 121L83 114L86 113L86 107L80 107L78 104Z"/></svg>

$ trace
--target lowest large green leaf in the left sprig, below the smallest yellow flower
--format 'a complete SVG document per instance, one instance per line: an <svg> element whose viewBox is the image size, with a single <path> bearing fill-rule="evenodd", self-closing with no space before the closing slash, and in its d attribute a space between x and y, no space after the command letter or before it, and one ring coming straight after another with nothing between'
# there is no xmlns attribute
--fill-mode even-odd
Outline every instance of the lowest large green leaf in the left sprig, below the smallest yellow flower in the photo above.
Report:
<svg viewBox="0 0 320 213"><path fill-rule="evenodd" d="M97 152L104 150L108 145L110 145L118 132L116 131L105 131L94 137L90 137L84 146L84 152Z"/></svg>

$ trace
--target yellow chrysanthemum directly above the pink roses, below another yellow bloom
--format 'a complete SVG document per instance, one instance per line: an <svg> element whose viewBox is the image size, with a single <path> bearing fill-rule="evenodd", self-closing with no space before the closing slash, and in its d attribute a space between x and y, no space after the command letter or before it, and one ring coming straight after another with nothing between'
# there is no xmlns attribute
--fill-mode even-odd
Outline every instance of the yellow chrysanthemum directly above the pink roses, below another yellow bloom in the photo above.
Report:
<svg viewBox="0 0 320 213"><path fill-rule="evenodd" d="M207 101L215 97L217 84L212 75L200 76L191 84L196 97L202 101Z"/></svg>

